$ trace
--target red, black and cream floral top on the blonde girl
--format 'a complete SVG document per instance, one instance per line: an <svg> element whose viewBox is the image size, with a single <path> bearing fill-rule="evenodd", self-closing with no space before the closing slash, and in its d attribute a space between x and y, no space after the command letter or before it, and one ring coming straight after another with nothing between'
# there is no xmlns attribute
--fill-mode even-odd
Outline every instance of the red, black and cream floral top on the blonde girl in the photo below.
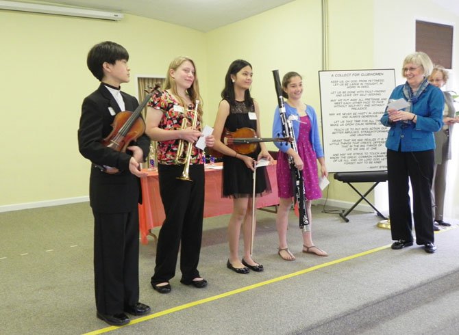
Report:
<svg viewBox="0 0 459 335"><path fill-rule="evenodd" d="M195 105L188 105L188 108L184 108L179 105L174 96L172 96L166 90L161 92L155 92L150 98L148 107L154 109L160 109L163 114L158 126L162 129L169 131L179 130L182 126L183 120L188 120L188 125L191 126L193 122L193 115L195 111ZM201 131L201 123L199 119L197 121L196 129ZM188 142L184 142L184 150L182 157L186 157L186 148ZM158 164L177 164L175 163L175 157L177 157L177 148L179 146L179 139L171 139L168 141L158 141L156 147L156 155L158 157ZM195 147L193 144L193 150L191 150L190 164L202 164L202 150Z"/></svg>

